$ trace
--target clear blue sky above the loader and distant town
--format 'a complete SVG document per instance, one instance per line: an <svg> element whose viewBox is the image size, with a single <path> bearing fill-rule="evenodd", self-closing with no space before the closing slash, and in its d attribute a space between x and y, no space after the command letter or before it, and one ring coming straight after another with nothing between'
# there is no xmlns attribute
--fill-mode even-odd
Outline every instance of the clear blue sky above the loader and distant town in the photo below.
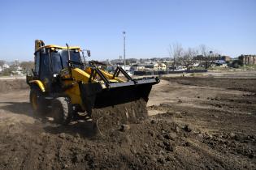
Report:
<svg viewBox="0 0 256 170"><path fill-rule="evenodd" d="M92 59L168 57L167 48L206 45L224 55L256 54L254 0L2 1L0 59L33 60L34 40L79 45Z"/></svg>

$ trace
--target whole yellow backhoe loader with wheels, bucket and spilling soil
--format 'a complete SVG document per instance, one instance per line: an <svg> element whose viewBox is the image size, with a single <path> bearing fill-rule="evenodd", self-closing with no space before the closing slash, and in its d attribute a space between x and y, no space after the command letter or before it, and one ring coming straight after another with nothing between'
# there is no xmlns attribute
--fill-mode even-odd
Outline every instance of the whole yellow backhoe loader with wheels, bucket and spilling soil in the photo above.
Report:
<svg viewBox="0 0 256 170"><path fill-rule="evenodd" d="M121 122L147 117L145 104L159 79L132 79L119 66L110 74L100 62L85 64L82 52L80 47L35 41L35 68L27 75L33 111L58 113L56 120L64 124L81 116L79 113L92 119L108 114Z"/></svg>

